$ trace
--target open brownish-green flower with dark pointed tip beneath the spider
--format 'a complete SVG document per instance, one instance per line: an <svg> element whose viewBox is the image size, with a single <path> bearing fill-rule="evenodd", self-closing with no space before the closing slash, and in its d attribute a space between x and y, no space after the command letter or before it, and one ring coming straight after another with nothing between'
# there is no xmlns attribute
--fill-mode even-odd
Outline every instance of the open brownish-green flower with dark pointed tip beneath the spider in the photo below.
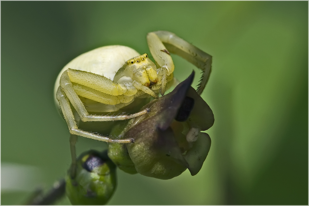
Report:
<svg viewBox="0 0 309 206"><path fill-rule="evenodd" d="M126 170L134 165L138 173L159 179L176 177L187 168L192 175L199 172L211 144L201 131L214 124L214 115L190 86L193 77L194 73L171 93L145 105L150 113L130 120L124 129L116 128L113 136L134 139L109 148L115 150L109 156L117 165L126 165Z"/></svg>

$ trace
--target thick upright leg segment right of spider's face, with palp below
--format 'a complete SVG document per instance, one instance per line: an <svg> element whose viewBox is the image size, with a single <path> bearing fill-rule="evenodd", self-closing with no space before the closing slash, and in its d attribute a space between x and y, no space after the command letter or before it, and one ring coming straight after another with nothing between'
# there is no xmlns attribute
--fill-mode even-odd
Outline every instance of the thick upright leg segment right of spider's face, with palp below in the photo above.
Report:
<svg viewBox="0 0 309 206"><path fill-rule="evenodd" d="M147 43L150 53L152 54L157 64L160 66L158 73L158 84L161 85L160 93L163 95L166 88L167 76L173 73L175 66L171 55L168 53L162 41L154 32L147 34Z"/></svg>

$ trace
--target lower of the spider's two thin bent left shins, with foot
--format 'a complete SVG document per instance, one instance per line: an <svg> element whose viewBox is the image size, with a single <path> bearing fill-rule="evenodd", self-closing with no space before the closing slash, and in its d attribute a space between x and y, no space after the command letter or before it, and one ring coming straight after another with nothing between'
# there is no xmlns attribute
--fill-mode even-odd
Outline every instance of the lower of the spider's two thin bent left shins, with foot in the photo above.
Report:
<svg viewBox="0 0 309 206"><path fill-rule="evenodd" d="M65 92L61 89L61 87L57 90L57 100L59 101L60 108L66 120L66 123L69 127L69 131L72 135L78 135L82 137L87 137L91 139L96 139L104 142L113 142L113 143L129 143L132 142L133 139L109 139L108 137L100 136L93 134L91 132L83 131L78 129L77 124L75 122L75 118L70 107L70 102L66 98ZM72 102L72 101L71 101ZM86 111L87 112L87 111Z"/></svg>

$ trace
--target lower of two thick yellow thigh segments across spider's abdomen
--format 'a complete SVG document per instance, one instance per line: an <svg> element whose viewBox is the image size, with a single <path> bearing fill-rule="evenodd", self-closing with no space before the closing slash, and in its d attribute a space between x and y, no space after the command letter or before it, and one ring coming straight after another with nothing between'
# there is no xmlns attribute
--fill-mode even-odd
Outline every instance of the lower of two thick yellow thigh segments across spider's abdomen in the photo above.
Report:
<svg viewBox="0 0 309 206"><path fill-rule="evenodd" d="M98 90L91 89L81 84L72 83L73 88L78 96L85 97L106 105L117 105L120 103L129 103L134 99L134 96L128 97L125 95L113 96L99 92Z"/></svg>

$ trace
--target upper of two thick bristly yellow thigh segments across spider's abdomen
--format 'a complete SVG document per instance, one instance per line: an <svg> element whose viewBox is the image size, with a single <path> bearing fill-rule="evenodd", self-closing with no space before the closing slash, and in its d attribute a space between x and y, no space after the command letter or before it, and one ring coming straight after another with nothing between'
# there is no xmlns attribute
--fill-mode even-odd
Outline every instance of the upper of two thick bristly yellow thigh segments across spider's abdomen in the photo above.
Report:
<svg viewBox="0 0 309 206"><path fill-rule="evenodd" d="M82 84L105 94L113 96L125 94L127 96L132 96L137 92L135 88L130 87L128 89L125 85L118 84L104 76L91 72L68 69L67 74L71 82ZM131 91L132 89L135 91Z"/></svg>

